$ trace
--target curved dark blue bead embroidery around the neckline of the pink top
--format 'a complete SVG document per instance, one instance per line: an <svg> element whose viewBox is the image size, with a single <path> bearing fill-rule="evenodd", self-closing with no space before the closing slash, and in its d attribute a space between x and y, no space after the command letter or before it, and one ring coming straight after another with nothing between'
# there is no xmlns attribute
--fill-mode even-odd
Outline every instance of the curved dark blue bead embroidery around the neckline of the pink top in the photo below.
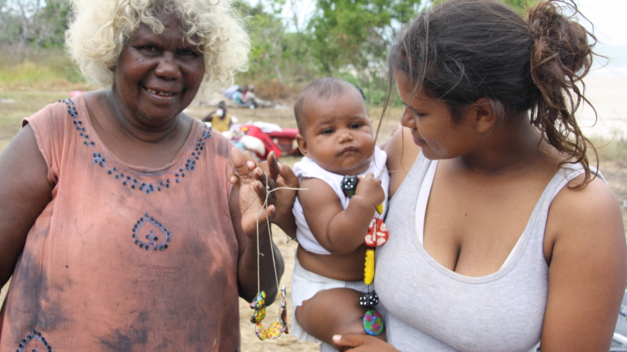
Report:
<svg viewBox="0 0 627 352"><path fill-rule="evenodd" d="M185 168L178 168L178 173L170 172L164 174L155 173L152 175L145 175L133 173L132 171L125 170L124 168L121 168L121 170L118 171L118 167L114 166L113 168L111 168L108 163L109 159L102 155L101 152L98 152L98 150L96 150L96 143L95 141L93 141L93 138L91 138L87 133L88 131L83 126L82 120L79 119L80 115L76 110L74 102L71 99L59 100L59 102L63 102L68 106L68 115L70 115L70 118L72 118L72 123L75 125L77 131L79 132L79 136L81 138L84 138L83 144L91 148L93 165L106 168L107 174L114 176L117 180L121 182L122 186L130 186L130 189L141 191L141 193L144 193L146 195L149 195L150 193L153 193L155 191L162 191L164 189L163 186L165 186L166 189L169 189L171 184L170 179L166 178L164 182L163 179L160 178L156 182L146 183L141 182L140 178L164 177L165 175L174 174L176 183L180 182L179 176L185 177L185 171L196 170L196 160L199 160L199 155L202 154L202 151L204 150L204 147L206 145L205 140L208 138L212 138L211 127L207 127L203 124L203 136L199 137L198 140L194 143L193 150L190 148L190 150L188 151L190 157L188 157L185 161ZM117 163L116 161L113 162ZM127 174L133 175L133 177L131 177L130 175L125 175L122 170L124 170L124 172ZM158 186L155 184L158 184Z"/></svg>

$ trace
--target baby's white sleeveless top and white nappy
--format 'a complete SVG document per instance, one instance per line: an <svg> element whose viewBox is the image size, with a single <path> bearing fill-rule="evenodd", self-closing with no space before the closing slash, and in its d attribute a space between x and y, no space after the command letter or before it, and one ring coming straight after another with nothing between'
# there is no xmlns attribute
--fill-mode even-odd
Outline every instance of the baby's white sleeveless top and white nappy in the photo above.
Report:
<svg viewBox="0 0 627 352"><path fill-rule="evenodd" d="M387 166L385 163L387 162L387 154L382 151L379 147L375 147L375 152L373 154L373 160L368 168L368 170L360 173L360 176L365 176L367 173L373 173L374 177L381 180L381 186L385 191L385 201L383 202L383 213L380 214L380 218L385 218L385 214L387 212L387 203L388 203L388 188L389 188L389 174L387 173ZM346 209L348 207L348 202L350 198L344 195L341 189L341 181L343 179L343 175L338 175L335 173L330 173L329 171L321 168L315 163L312 159L308 157L303 157L302 161L299 161L294 164L294 173L297 175L299 181L302 181L303 177L306 178L317 178L321 179L335 191L338 196L342 208ZM316 191L315 189L309 191ZM292 208L294 213L294 217L296 219L296 239L298 241L299 246L302 246L304 250L307 250L311 253L329 255L331 254L328 250L320 246L320 243L316 241L314 234L309 230L309 225L307 225L307 221L304 218L304 214L302 212L302 206L298 198L296 198L294 202L294 207ZM364 234L366 237L366 234ZM325 276L318 275L316 273L312 273L307 269L304 269L298 259L295 258L295 266L292 274L292 313L295 312L296 307L302 305L303 301L307 301L309 298L313 297L318 291L323 289L334 289L338 287L346 287L350 289L355 289L360 292L368 291L368 286L361 281L341 281L334 280L330 278L326 278ZM295 317L295 315L292 315ZM304 341L309 342L320 342L319 339L309 335L306 331L304 331L296 319L292 319L292 327L290 331L291 335L294 335ZM320 343L320 351L336 351L332 346L326 344L325 342Z"/></svg>

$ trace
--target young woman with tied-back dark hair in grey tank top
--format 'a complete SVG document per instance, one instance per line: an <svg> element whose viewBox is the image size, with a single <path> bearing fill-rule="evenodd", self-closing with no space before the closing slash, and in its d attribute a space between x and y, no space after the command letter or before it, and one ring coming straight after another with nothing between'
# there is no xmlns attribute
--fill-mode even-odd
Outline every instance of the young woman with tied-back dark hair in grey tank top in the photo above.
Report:
<svg viewBox="0 0 627 352"><path fill-rule="evenodd" d="M523 20L451 0L389 56L406 106L387 144L387 341L353 351L607 351L627 280L618 202L575 110L594 36L541 0Z"/></svg>

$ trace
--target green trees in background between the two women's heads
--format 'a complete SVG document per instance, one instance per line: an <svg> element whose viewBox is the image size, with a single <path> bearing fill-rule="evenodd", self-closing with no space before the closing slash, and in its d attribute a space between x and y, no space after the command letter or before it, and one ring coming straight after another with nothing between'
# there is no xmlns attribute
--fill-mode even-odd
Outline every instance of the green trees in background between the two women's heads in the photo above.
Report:
<svg viewBox="0 0 627 352"><path fill-rule="evenodd" d="M525 10L525 0L500 1L521 14ZM253 43L249 72L244 77L274 79L279 83L286 77L290 81L340 77L362 88L371 104L380 104L385 99L387 50L404 24L432 3L430 0L316 0L315 10L302 23L303 17L297 14L303 2L256 0L251 5L247 0L238 0L235 3L245 18Z"/></svg>

